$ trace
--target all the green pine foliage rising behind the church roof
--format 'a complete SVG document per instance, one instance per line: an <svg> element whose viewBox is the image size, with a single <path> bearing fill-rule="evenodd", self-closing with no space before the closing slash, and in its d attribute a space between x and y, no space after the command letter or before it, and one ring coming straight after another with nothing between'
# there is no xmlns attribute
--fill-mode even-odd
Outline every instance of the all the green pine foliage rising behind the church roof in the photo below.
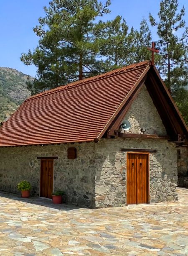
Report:
<svg viewBox="0 0 188 256"><path fill-rule="evenodd" d="M126 20L117 16L103 22L110 13L110 0L51 0L44 7L45 17L33 31L39 37L38 46L21 60L34 64L37 77L28 79L32 94L58 87L77 79L101 74L117 67L150 59L152 36L143 17L140 30L129 29ZM150 13L151 26L157 28L159 40L155 63L187 120L188 28L185 8L178 13L178 0L161 0L158 20ZM184 91L184 97L180 97Z"/></svg>

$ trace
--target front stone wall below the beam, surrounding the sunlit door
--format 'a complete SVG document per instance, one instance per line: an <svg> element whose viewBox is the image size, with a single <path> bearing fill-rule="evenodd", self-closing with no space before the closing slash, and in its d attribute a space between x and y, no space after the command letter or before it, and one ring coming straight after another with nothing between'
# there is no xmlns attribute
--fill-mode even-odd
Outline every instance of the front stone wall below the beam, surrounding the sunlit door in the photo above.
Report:
<svg viewBox="0 0 188 256"><path fill-rule="evenodd" d="M177 152L166 140L102 139L96 151L102 158L102 169L96 170L96 207L126 204L127 153L121 148L156 149L150 154L150 202L178 200ZM96 158L99 161L98 158Z"/></svg>

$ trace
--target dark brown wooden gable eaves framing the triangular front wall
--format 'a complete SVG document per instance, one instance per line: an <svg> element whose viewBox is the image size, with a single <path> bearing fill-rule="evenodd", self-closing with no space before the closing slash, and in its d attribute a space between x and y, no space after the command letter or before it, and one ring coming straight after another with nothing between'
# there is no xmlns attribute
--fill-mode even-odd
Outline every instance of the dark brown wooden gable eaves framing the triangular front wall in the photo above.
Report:
<svg viewBox="0 0 188 256"><path fill-rule="evenodd" d="M188 127L157 69L153 66L150 67L147 71L147 75L143 77L137 87L133 87L134 91L132 92L132 95L127 97L125 104L122 106L121 110L119 110L114 122L108 127L107 137L110 138L110 136L117 135L124 116L130 109L133 100L135 100L144 84L146 85L147 91L158 110L170 141L176 142L178 146L188 146Z"/></svg>

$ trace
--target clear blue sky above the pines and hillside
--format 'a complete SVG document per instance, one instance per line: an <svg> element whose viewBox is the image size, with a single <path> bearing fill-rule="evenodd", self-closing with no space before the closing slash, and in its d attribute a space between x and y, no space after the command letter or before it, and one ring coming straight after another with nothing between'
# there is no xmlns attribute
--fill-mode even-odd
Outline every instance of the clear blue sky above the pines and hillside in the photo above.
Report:
<svg viewBox="0 0 188 256"><path fill-rule="evenodd" d="M44 16L43 6L48 3L49 0L0 0L0 67L18 69L35 76L36 67L25 66L20 56L37 46L38 38L33 27L38 24L38 18ZM122 15L130 27L139 28L143 16L148 20L149 12L157 17L159 5L160 0L112 0L112 12L106 18ZM188 0L179 0L179 7L183 5L185 20L188 20ZM156 40L157 35L152 32L153 40Z"/></svg>

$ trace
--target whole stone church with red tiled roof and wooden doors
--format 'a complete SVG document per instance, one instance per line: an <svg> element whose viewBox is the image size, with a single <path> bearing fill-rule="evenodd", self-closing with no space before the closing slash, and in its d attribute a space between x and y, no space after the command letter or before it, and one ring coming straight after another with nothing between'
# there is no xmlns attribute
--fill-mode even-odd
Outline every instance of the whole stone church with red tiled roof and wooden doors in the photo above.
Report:
<svg viewBox="0 0 188 256"><path fill-rule="evenodd" d="M115 207L178 200L177 149L188 128L144 61L34 95L0 128L0 190Z"/></svg>

